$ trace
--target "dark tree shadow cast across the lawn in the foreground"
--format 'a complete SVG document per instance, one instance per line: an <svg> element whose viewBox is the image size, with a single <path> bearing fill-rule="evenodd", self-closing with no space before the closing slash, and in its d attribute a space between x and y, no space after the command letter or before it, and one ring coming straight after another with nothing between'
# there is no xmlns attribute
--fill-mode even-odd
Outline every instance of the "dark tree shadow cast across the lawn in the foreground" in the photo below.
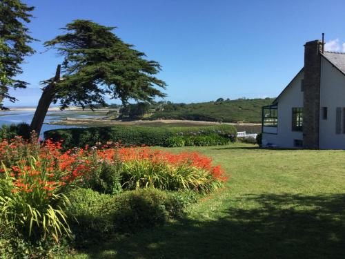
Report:
<svg viewBox="0 0 345 259"><path fill-rule="evenodd" d="M90 258L345 258L345 194L246 195L215 221L182 218ZM246 209L240 208L246 204Z"/></svg>

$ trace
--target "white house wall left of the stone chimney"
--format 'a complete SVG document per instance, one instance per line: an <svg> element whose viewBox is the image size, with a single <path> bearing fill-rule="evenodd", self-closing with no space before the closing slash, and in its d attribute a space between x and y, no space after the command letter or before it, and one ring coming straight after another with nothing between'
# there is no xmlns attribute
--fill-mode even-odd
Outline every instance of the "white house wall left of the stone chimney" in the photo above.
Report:
<svg viewBox="0 0 345 259"><path fill-rule="evenodd" d="M294 148L293 140L303 140L303 133L292 131L292 108L303 107L303 92L301 81L303 70L290 82L289 86L279 96L277 134L262 133L262 144L273 144L279 148Z"/></svg>

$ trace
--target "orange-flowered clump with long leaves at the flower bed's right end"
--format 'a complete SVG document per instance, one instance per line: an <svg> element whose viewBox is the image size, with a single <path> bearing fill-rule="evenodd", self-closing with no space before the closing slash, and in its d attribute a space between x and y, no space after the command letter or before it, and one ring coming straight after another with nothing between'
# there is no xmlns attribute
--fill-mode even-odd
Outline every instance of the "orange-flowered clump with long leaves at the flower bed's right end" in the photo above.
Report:
<svg viewBox="0 0 345 259"><path fill-rule="evenodd" d="M124 189L155 187L170 191L209 193L226 180L219 166L212 166L208 157L197 153L174 155L127 148L122 155L121 181Z"/></svg>

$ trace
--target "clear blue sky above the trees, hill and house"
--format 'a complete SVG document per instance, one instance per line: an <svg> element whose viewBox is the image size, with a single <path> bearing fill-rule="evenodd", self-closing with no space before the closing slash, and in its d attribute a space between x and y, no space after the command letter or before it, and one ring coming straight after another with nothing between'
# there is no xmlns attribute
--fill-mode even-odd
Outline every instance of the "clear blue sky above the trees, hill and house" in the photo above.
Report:
<svg viewBox="0 0 345 259"><path fill-rule="evenodd" d="M43 52L43 42L73 19L117 26L117 36L159 61L172 102L276 97L302 68L304 43L322 32L329 50L345 51L344 0L25 2L35 6L28 27L40 41L23 64L20 78L30 86L14 92L16 106L37 104L39 81L61 61L54 50Z"/></svg>

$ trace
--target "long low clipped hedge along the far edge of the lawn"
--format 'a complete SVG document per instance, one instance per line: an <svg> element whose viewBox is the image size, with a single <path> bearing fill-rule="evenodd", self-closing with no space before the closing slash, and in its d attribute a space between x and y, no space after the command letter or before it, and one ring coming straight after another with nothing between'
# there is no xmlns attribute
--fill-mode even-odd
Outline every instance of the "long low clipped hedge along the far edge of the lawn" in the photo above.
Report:
<svg viewBox="0 0 345 259"><path fill-rule="evenodd" d="M172 137L182 136L184 139L194 137L198 142L197 136L215 136L219 139L227 139L228 142L235 142L237 131L231 125L215 126L193 126L193 127L147 127L147 126L108 126L90 128L62 128L46 131L45 139L53 141L63 140L64 148L83 147L88 144L95 146L97 143L106 144L107 142L121 142L124 146L171 146ZM188 143L194 143L186 141ZM203 142L206 143L206 142ZM209 141L210 144L215 143ZM217 143L226 144L225 141ZM198 145L198 144L195 144ZM205 145L205 144L203 144Z"/></svg>

